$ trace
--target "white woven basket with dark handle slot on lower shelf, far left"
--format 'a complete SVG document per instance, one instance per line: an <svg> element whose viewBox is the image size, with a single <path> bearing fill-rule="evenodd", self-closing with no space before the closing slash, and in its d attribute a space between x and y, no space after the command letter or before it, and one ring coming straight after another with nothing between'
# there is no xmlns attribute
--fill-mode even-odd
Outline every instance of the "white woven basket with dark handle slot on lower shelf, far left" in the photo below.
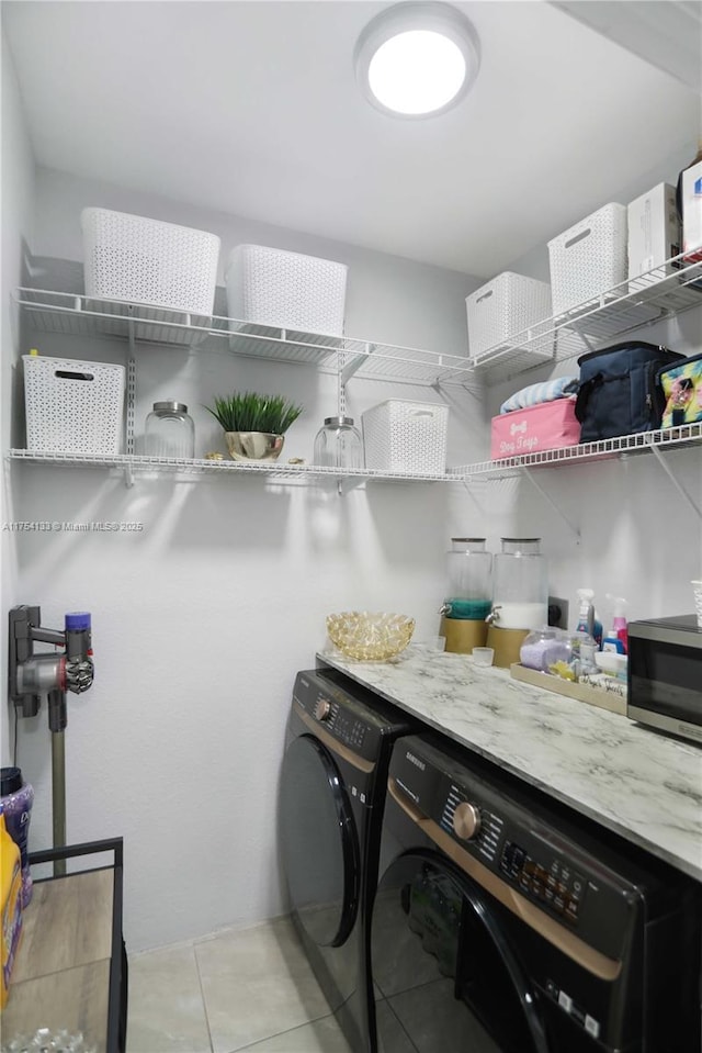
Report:
<svg viewBox="0 0 702 1053"><path fill-rule="evenodd" d="M124 366L23 355L26 447L70 453L118 453Z"/></svg>

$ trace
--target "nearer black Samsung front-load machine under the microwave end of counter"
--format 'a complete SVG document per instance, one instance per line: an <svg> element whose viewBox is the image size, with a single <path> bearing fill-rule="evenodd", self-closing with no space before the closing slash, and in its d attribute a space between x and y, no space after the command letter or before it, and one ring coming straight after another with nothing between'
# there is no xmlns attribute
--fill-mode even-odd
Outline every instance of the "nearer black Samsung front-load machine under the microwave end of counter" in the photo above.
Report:
<svg viewBox="0 0 702 1053"><path fill-rule="evenodd" d="M699 1053L700 893L450 740L404 738L371 919L374 1048Z"/></svg>

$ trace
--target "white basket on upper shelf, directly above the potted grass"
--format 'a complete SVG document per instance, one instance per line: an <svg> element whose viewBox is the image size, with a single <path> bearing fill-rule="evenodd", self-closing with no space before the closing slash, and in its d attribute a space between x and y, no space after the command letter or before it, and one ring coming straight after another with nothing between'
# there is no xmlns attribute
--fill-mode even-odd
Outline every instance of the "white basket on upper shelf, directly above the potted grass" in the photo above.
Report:
<svg viewBox="0 0 702 1053"><path fill-rule="evenodd" d="M347 272L330 259L237 245L225 273L229 317L342 336Z"/></svg>

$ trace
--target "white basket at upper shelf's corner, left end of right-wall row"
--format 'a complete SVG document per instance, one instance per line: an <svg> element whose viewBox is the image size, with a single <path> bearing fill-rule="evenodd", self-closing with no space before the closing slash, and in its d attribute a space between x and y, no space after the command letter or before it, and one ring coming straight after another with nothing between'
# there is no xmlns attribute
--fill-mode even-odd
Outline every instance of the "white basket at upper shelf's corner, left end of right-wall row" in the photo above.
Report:
<svg viewBox="0 0 702 1053"><path fill-rule="evenodd" d="M468 350L478 358L551 315L551 285L506 270L465 300Z"/></svg>

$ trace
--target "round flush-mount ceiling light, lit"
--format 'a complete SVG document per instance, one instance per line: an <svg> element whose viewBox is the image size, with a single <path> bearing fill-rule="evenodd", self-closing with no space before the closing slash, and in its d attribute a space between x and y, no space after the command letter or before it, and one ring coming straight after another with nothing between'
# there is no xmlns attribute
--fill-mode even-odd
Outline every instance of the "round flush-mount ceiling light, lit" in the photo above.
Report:
<svg viewBox="0 0 702 1053"><path fill-rule="evenodd" d="M353 60L361 91L378 110L433 116L467 93L479 67L478 41L450 4L410 0L369 22Z"/></svg>

